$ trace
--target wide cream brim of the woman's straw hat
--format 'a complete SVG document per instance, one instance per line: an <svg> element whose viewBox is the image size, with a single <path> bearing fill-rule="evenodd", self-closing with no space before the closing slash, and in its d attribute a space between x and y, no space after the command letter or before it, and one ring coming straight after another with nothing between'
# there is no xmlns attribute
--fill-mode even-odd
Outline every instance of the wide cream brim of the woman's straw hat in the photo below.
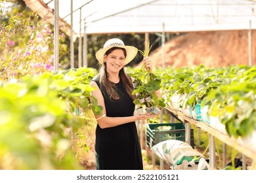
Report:
<svg viewBox="0 0 256 183"><path fill-rule="evenodd" d="M135 48L134 46L114 46L114 47L119 47L119 48L125 48L126 52L127 52L127 56L125 58L125 65L127 65L127 63L131 62L135 56L138 53L138 49ZM98 52L96 52L96 59L98 59L98 62L103 65L104 64L104 54L106 54L106 51L108 51L110 48L113 47L107 47L107 48L102 48L100 50L98 50Z"/></svg>

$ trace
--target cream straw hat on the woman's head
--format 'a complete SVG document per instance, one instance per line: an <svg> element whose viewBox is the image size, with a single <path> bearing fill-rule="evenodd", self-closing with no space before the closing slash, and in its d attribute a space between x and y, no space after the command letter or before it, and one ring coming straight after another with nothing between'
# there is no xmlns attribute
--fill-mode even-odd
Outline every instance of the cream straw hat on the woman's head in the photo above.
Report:
<svg viewBox="0 0 256 183"><path fill-rule="evenodd" d="M101 65L104 64L104 60L103 60L104 54L106 53L106 51L108 51L110 48L113 48L113 47L125 48L127 52L127 56L125 58L125 65L130 61L132 61L138 52L138 49L135 48L134 46L125 46L125 44L123 43L123 41L121 41L121 39L117 39L117 38L110 39L105 42L102 49L96 52L96 59L98 59Z"/></svg>

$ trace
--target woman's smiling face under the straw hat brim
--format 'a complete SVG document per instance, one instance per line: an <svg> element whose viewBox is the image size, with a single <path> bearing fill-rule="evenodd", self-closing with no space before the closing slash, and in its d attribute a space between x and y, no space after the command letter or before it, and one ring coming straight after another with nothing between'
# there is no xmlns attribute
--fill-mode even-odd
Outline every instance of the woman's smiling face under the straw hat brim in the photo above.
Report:
<svg viewBox="0 0 256 183"><path fill-rule="evenodd" d="M105 55L106 69L108 73L119 73L125 65L125 54L123 50L113 50L108 56Z"/></svg>

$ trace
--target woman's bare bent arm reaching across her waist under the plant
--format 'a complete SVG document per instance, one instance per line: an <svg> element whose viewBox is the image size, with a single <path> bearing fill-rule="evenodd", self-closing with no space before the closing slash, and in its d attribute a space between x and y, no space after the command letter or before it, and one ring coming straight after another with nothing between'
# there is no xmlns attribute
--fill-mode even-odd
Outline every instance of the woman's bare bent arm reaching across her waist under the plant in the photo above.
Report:
<svg viewBox="0 0 256 183"><path fill-rule="evenodd" d="M104 97L100 92L98 85L96 84L96 82L93 81L91 82L91 86L96 88L96 90L92 92L92 95L98 100L98 105L101 105L103 107L101 116L95 114L95 118L100 128L114 127L117 125L127 124L130 122L135 122L137 120L146 120L148 118L154 118L158 116L156 114L143 114L143 115L127 116L127 117L108 117L106 116Z"/></svg>

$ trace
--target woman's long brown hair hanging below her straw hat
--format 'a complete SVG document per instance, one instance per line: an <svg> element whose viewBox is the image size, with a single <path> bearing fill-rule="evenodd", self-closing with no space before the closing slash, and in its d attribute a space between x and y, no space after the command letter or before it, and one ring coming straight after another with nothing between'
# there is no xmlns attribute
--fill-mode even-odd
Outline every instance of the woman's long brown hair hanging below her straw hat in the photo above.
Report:
<svg viewBox="0 0 256 183"><path fill-rule="evenodd" d="M111 52L117 49L123 50L123 53L125 54L125 58L126 58L127 52L125 48L119 48L119 47L110 48L109 50L106 51L105 55L108 56L108 54L110 54ZM100 88L104 86L106 88L106 93L110 96L110 99L118 100L119 95L116 91L116 86L114 82L110 82L110 80L108 80L106 63L104 63L102 67L100 67L100 71L98 72L98 77L100 79ZM119 71L119 78L123 84L123 87L127 91L128 95L131 97L131 99L135 99L135 96L131 94L133 92L133 84L132 84L131 78L129 77L129 75L125 73L124 68L122 68ZM104 90L101 90L101 91L104 91Z"/></svg>

